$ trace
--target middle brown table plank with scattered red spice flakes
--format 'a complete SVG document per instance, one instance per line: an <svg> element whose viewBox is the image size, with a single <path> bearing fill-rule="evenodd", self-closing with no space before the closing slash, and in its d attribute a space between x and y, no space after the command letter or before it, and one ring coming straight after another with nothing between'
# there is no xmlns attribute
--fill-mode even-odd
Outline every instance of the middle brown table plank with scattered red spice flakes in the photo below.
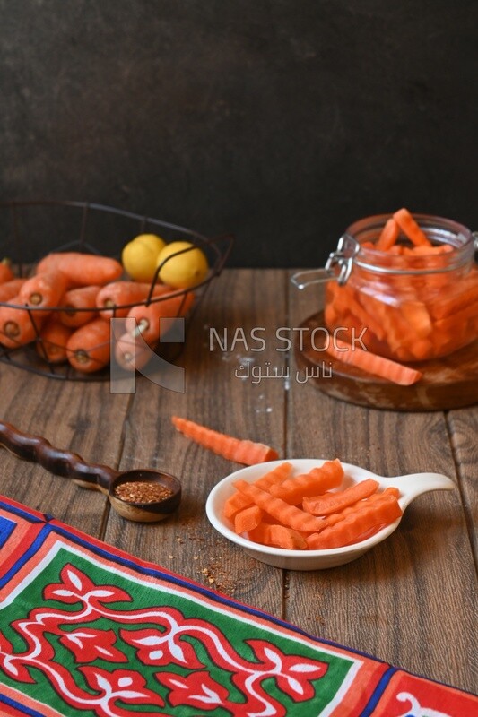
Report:
<svg viewBox="0 0 478 717"><path fill-rule="evenodd" d="M285 358L274 345L276 325L285 316L282 271L263 275L225 271L213 282L187 333L186 348L177 363L185 367L186 391L174 393L138 380L126 426L121 468L143 465L160 468L183 482L184 497L178 514L140 530L111 515L106 539L146 560L229 594L274 615L282 615L282 572L258 563L217 534L209 524L204 505L213 485L242 466L192 444L172 426L173 414L203 422L234 436L274 445L283 451L283 381L252 383L241 366L281 368ZM264 328L265 350L250 340L255 326ZM210 330L223 337L227 350L210 342ZM236 330L247 339L236 341ZM242 335L242 334L237 334ZM226 347L223 347L226 349Z"/></svg>

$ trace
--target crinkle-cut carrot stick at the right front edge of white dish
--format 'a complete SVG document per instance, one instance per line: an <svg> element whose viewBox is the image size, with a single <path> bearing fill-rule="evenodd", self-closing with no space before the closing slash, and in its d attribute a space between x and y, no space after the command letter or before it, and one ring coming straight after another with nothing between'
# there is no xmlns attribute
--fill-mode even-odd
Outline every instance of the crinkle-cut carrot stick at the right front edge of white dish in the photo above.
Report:
<svg viewBox="0 0 478 717"><path fill-rule="evenodd" d="M371 528L394 523L401 515L402 508L395 496L382 495L381 500L376 500L371 505L363 501L363 505L357 506L357 510L352 511L342 521L317 534L309 535L306 540L311 550L340 548L356 542L362 533Z"/></svg>

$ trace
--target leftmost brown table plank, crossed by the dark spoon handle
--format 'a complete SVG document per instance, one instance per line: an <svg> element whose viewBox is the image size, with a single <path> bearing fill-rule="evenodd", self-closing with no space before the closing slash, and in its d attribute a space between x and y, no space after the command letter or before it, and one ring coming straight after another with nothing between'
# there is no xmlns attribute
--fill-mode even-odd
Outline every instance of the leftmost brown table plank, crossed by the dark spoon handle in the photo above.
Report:
<svg viewBox="0 0 478 717"><path fill-rule="evenodd" d="M117 466L129 397L111 395L108 381L59 381L1 364L0 396L5 422L87 462ZM0 493L97 537L109 511L99 492L7 451L2 452Z"/></svg>

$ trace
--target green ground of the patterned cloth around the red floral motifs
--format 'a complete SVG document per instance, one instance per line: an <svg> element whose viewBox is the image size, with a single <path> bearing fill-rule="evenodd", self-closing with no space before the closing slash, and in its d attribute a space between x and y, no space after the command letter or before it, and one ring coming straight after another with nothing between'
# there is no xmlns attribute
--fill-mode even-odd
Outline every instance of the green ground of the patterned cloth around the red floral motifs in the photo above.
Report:
<svg viewBox="0 0 478 717"><path fill-rule="evenodd" d="M278 686L275 678L269 677L262 681L262 689L283 705L285 714L297 714L297 711L300 710L300 717L309 717L309 715L310 717L317 717L326 705L329 704L352 668L352 659L349 660L340 655L331 655L324 652L319 644L308 645L296 642L286 635L271 633L265 629L265 627L256 624L253 617L248 618L248 616L244 615L242 618L237 618L232 613L226 612L224 614L223 612L213 610L204 603L200 595L197 595L195 598L178 594L172 596L167 585L159 589L156 586L135 583L126 574L121 572L119 566L115 566L115 572L112 573L105 570L102 566L97 565L93 560L77 556L65 548L60 549L41 574L36 575L32 579L31 583L22 592L22 595L13 600L12 604L0 609L0 632L4 635L4 638L13 644L13 654L25 652L27 648L25 638L18 630L11 626L13 621L25 621L30 614L30 610L33 608L45 608L45 612L48 612L48 609L54 609L56 611L64 611L65 613L75 613L80 609L81 604L78 601L68 604L63 601L45 600L43 597L44 589L48 584L61 582L60 572L65 564L73 564L78 570L86 574L95 585L114 585L132 596L133 600L131 602L117 601L103 603L109 610L117 612L125 610L126 612L130 612L131 610L146 610L152 607L161 608L174 605L174 608L178 609L184 618L201 619L210 623L217 630L220 630L223 639L231 642L234 651L237 652L239 656L239 660L257 663L257 657L251 649L251 646L247 643L248 640L252 639L270 641L285 655L300 655L304 659L326 662L328 665L326 674L322 678L313 681L315 695L313 695L311 699L300 702L299 704L295 703L291 696L286 694ZM172 586L171 590L176 590L176 587ZM253 624L251 624L251 622ZM161 629L163 629L161 626L154 625L153 622L148 622L147 620L139 625L132 626L124 625L123 623L119 624L113 619L104 617L95 618L94 620L85 619L81 624L74 623L73 625L68 625L65 619L63 624L65 633L80 629L115 630L117 640L112 644L112 647L120 651L125 656L126 661L111 662L108 659L101 659L99 656L94 662L88 661L84 664L88 667L103 669L107 672L112 672L116 669L137 669L146 680L146 687L151 689L152 692L161 695L165 702L163 710L168 714L178 715L178 717L196 717L199 711L197 706L190 707L186 704L171 706L169 704L169 687L161 685L155 677L155 674L164 671L168 673L173 672L180 677L187 677L191 674L191 671L195 671L195 669L206 670L209 673L209 677L212 678L215 683L218 683L227 690L230 703L243 703L244 695L241 694L239 688L232 680L233 671L215 664L213 655L209 652L208 644L204 644L197 635L182 637L180 644L183 644L185 647L189 644L194 648L196 659L204 664L203 668L191 670L184 665L173 663L158 666L157 664L150 665L139 662L136 656L135 646L128 644L126 640L122 639L121 635L119 635L119 629L125 629L127 630L127 634L131 635L134 631L142 631L147 628L152 628L153 633L154 631L161 631ZM39 632L39 628L36 628L36 631L35 628L26 629L29 629L34 635L40 635L41 632ZM86 693L95 695L95 690L88 684L79 669L82 667L82 663L76 661L74 652L60 642L59 636L48 632L48 618L45 618L45 626L43 629L45 630L44 635L53 651L53 655L50 656L52 661L68 670L68 672L74 676L76 685L81 687ZM69 708L65 706L64 701L51 686L48 675L36 667L29 667L28 669L34 683L16 681L5 675L3 670L0 670L0 683L4 682L5 685L15 687L25 695L34 697L40 702L54 707L62 714L70 714L68 712ZM297 674L298 679L301 677L300 674ZM129 713L133 715L135 713L161 713L161 708L158 705L131 704L128 702L121 704L121 706L129 710ZM82 713L86 717L89 715L93 717L93 715L96 714L89 709ZM78 709L71 708L71 714L78 714ZM227 717L230 715L230 711L222 707L214 707L213 709L204 709L204 714L211 714L214 717Z"/></svg>

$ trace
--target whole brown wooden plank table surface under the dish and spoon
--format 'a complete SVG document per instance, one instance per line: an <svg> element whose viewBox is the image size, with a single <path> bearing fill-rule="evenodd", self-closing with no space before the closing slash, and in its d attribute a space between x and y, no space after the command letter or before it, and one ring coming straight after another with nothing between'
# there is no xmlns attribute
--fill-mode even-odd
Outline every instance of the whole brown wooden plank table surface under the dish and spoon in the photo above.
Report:
<svg viewBox="0 0 478 717"><path fill-rule="evenodd" d="M176 360L186 371L184 393L139 376L135 393L114 394L109 381L59 381L0 364L4 421L88 462L177 475L184 497L174 517L127 522L102 494L6 451L0 493L313 635L476 692L478 406L370 410L299 383L293 352L280 350L287 347L277 330L291 336L287 329L314 313L320 297L314 288L294 289L290 276L242 269L213 281ZM255 327L265 341L261 351L253 350L261 348L251 338ZM221 347L217 336L223 340L225 329L228 345ZM290 367L290 380L239 378L245 359L278 371ZM210 526L206 497L240 466L187 441L172 414L273 445L281 458L339 457L390 476L440 472L456 481L456 490L416 499L388 540L349 565L284 572L248 557Z"/></svg>

